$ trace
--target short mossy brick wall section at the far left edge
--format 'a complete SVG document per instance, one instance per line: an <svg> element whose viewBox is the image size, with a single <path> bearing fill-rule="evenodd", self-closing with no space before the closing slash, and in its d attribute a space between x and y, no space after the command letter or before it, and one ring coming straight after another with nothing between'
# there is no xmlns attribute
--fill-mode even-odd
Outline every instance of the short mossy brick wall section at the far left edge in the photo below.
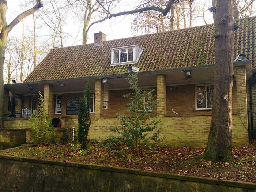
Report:
<svg viewBox="0 0 256 192"><path fill-rule="evenodd" d="M26 143L26 129L1 129L0 128L0 150L18 147Z"/></svg>

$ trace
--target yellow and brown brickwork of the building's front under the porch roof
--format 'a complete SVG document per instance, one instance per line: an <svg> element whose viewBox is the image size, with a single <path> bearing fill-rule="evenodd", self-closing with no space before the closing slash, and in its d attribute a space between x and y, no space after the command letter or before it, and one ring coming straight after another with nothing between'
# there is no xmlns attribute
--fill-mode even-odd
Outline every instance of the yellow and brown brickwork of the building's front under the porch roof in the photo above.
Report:
<svg viewBox="0 0 256 192"><path fill-rule="evenodd" d="M160 103L159 111L165 112L165 116L160 116L161 124L159 128L163 129L165 143L176 146L206 146L208 132L211 123L211 111L195 111L195 85L176 86L177 89L170 90L165 88L165 76L157 76L157 98ZM236 74L236 82L233 84L233 145L240 146L248 143L247 130L247 95L246 80L244 68ZM112 90L109 91L108 109L103 109L103 86L100 80L95 83L95 111L98 114L91 115L91 128L89 137L91 139L102 140L106 136L113 134L109 131L112 126L118 126L119 120L116 113L125 113L129 102L123 98L124 94L130 90ZM256 93L256 91L255 91ZM256 95L256 94L255 94ZM54 115L62 120L63 128L78 127L77 115L66 116L66 104L74 98L82 97L82 93L63 94L62 114ZM166 98L166 99L165 99ZM256 97L255 97L256 98ZM165 101L166 100L166 101ZM256 99L255 99L256 100ZM165 105L166 102L166 105ZM175 116L171 109L175 108L179 113ZM55 109L55 95L53 95L52 111ZM15 125L14 125L15 124ZM7 127L25 127L20 121L6 121Z"/></svg>

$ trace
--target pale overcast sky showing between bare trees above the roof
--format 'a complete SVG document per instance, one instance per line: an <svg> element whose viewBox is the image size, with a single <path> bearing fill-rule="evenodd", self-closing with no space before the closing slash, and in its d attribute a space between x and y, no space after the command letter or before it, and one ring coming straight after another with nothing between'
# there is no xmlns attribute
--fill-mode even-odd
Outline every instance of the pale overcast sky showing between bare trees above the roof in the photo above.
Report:
<svg viewBox="0 0 256 192"><path fill-rule="evenodd" d="M44 0L43 0L44 2ZM204 4L204 1L194 1L197 3L202 3ZM7 23L10 23L12 19L14 19L20 12L21 12L21 6L20 6L20 1L8 1L7 6ZM23 1L24 4L24 1ZM138 1L125 1L122 0L119 3L119 6L115 8L113 12L120 12L120 11L127 11L127 10L132 10L135 8L135 6L138 4ZM207 23L212 23L212 14L210 11L207 10L207 8L210 6L211 1L206 1L206 6L205 6L205 18L207 20ZM29 6L29 8L31 5ZM46 9L47 7L44 7ZM38 14L38 13L37 13ZM78 34L77 41L75 42L74 45L79 45L82 44L82 23L80 23L80 26L78 23L74 20L74 18L69 16L69 13L67 13L67 19L65 21L64 25L64 31L71 34L73 37L75 37ZM98 23L91 27L89 30L89 40L87 43L93 42L93 33L97 33L98 31L102 31L107 35L107 40L112 40L112 39L118 39L118 38L126 38L126 37L132 37L138 34L133 34L131 32L131 21L135 18L135 15L126 15L126 16L120 16L117 18L111 18L106 20L105 22ZM25 29L26 33L30 35L33 30L33 23L32 23L32 15L28 16L25 20ZM37 20L39 23L40 20ZM38 24L37 23L37 24ZM195 22L193 22L193 26L199 26L199 25L205 25L203 22L203 18L197 18ZM19 23L17 26L14 27L14 29L10 32L10 35L13 36L18 36L20 37L22 34L21 30L21 23ZM37 29L37 36L38 39L44 38L46 34L48 34L48 28L44 27L44 29ZM64 46L70 46L74 42L74 38L68 38L67 42L65 42Z"/></svg>

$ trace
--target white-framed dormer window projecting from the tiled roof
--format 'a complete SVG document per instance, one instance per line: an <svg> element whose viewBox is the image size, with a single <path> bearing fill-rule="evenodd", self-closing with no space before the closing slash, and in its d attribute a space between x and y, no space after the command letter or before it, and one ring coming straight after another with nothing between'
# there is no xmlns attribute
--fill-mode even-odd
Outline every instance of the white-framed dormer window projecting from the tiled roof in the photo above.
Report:
<svg viewBox="0 0 256 192"><path fill-rule="evenodd" d="M139 60L142 48L138 45L111 49L111 65L133 64Z"/></svg>

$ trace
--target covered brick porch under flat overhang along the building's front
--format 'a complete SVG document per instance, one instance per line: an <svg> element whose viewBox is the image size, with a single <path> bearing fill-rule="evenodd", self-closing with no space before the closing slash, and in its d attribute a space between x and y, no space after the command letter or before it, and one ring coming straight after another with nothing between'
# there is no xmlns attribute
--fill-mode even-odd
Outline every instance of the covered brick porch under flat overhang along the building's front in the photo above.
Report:
<svg viewBox="0 0 256 192"><path fill-rule="evenodd" d="M185 77L185 71L191 72L191 78ZM161 113L159 128L163 129L166 143L177 146L201 147L207 143L211 123L211 95L214 65L177 68L163 71L139 73L139 86L142 90L156 91ZM234 64L233 101L233 143L248 143L247 90L246 79L251 78L250 61L238 61ZM121 76L120 76L121 75ZM10 103L10 92L19 95L18 108L36 109L38 91L44 95L44 110L54 121L54 126L61 128L78 127L76 99L82 97L86 82L91 89L92 124L89 136L92 139L104 139L111 134L109 128L119 124L117 113L125 114L129 93L127 74L93 76L86 78L50 80L47 82L26 82L5 85L5 104ZM102 78L108 83L103 84ZM29 89L27 85L32 85ZM208 93L208 94L207 94ZM7 97L8 96L8 97ZM208 101L207 101L208 99ZM16 104L18 105L18 104ZM7 107L9 106L9 107ZM5 114L10 113L10 106L5 105ZM13 113L13 112L12 112ZM57 122L58 120L58 122ZM5 128L29 128L27 118L7 117Z"/></svg>

